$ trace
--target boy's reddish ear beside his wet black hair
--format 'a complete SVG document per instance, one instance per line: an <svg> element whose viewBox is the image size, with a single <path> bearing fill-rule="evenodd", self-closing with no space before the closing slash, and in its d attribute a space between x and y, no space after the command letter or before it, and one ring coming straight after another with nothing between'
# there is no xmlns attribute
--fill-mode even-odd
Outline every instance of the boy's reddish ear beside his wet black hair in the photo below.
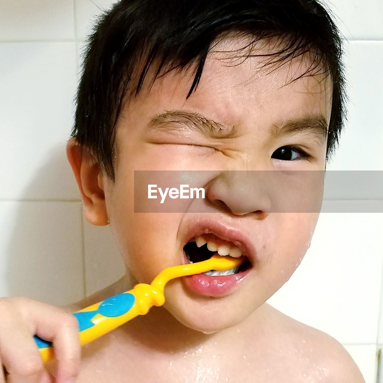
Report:
<svg viewBox="0 0 383 383"><path fill-rule="evenodd" d="M81 155L80 146L74 137L67 142L66 152L81 192L85 218L96 226L107 225L109 220L100 166L90 153L87 156Z"/></svg>

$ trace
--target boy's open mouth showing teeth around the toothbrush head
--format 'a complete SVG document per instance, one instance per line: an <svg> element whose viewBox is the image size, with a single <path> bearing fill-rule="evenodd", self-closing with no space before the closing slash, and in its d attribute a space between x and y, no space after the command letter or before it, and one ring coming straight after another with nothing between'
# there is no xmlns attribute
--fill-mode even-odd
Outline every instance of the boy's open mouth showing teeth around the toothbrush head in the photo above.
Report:
<svg viewBox="0 0 383 383"><path fill-rule="evenodd" d="M214 234L202 234L201 236L191 239L184 247L186 258L190 263L202 262L210 259L212 255L218 254L222 256L231 256L239 258L241 255L246 257L246 254L242 254L242 250L235 246L232 242L224 241L223 239L215 236ZM249 259L246 259L244 263L238 267L232 268L226 271L210 270L205 272L205 275L231 275L246 271L251 267Z"/></svg>

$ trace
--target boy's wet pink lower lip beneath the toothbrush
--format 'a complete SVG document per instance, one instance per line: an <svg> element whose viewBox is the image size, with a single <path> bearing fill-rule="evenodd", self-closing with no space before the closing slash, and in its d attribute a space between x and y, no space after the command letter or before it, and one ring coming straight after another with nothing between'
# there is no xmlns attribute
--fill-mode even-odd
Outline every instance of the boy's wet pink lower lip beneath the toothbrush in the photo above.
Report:
<svg viewBox="0 0 383 383"><path fill-rule="evenodd" d="M189 261L186 258L185 252L183 253L183 257L184 264L188 264ZM183 277L182 281L194 293L205 296L222 297L229 295L229 293L234 291L234 289L249 273L250 268L248 268L245 271L242 271L241 273L231 275L188 275L186 277Z"/></svg>

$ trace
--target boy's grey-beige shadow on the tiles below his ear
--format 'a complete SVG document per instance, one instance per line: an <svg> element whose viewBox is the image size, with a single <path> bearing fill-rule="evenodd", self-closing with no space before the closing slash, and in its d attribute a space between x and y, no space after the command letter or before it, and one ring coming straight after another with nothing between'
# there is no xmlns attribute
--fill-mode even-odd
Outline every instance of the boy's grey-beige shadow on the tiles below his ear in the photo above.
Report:
<svg viewBox="0 0 383 383"><path fill-rule="evenodd" d="M125 272L110 226L82 223L80 191L65 145L47 154L26 186L23 201L5 205L3 218L11 228L3 251L4 296L63 306L110 285ZM52 195L73 198L53 200Z"/></svg>

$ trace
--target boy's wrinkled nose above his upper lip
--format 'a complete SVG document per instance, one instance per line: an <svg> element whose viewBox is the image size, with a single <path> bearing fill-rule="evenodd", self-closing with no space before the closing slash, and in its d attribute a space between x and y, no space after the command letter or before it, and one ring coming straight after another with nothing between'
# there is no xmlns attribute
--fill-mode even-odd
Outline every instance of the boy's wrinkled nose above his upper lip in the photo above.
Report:
<svg viewBox="0 0 383 383"><path fill-rule="evenodd" d="M254 213L264 219L271 211L267 172L231 170L220 175L206 187L206 198L219 210L243 216Z"/></svg>

